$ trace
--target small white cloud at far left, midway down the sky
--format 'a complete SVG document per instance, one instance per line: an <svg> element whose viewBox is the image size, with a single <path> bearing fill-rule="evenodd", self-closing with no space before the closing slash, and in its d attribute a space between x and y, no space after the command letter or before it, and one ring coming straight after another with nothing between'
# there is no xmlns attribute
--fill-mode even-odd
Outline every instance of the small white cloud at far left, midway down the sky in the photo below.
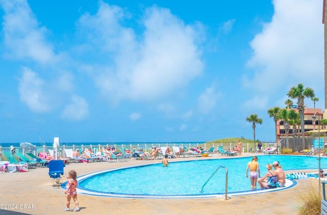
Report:
<svg viewBox="0 0 327 215"><path fill-rule="evenodd" d="M31 111L46 113L51 110L50 100L45 92L45 81L29 68L22 68L18 92L20 100L28 105Z"/></svg>

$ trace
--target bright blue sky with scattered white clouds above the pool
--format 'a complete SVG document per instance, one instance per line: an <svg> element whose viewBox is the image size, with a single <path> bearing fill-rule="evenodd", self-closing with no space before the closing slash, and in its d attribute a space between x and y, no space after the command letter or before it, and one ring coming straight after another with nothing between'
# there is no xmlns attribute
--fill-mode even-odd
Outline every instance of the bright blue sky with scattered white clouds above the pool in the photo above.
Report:
<svg viewBox="0 0 327 215"><path fill-rule="evenodd" d="M0 0L0 142L272 141L324 108L322 2Z"/></svg>

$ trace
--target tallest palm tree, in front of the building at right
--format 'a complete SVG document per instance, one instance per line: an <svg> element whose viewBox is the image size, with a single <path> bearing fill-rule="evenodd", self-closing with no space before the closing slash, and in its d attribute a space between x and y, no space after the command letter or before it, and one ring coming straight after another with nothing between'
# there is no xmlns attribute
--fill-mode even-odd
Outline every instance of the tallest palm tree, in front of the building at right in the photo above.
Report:
<svg viewBox="0 0 327 215"><path fill-rule="evenodd" d="M301 120L301 133L302 133L302 148L305 149L306 147L306 140L305 140L305 98L312 98L315 96L315 92L312 88L304 88L303 84L298 84L295 87L292 87L287 95L291 98L297 98L297 110L300 114Z"/></svg>

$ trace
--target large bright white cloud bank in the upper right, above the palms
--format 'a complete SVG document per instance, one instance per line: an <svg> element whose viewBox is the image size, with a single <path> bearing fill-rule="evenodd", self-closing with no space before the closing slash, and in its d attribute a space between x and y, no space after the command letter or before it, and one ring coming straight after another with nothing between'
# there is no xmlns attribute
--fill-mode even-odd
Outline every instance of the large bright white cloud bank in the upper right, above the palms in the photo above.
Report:
<svg viewBox="0 0 327 215"><path fill-rule="evenodd" d="M255 74L244 77L244 85L265 93L286 88L285 94L298 83L314 86L318 79L323 85L322 2L274 0L273 5L271 22L250 42L248 66Z"/></svg>

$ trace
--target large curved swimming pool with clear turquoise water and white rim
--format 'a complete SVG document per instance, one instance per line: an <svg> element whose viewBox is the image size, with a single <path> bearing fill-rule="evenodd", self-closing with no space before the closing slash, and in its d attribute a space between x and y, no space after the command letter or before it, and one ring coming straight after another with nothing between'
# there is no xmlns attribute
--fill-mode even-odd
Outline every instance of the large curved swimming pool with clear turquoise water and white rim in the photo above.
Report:
<svg viewBox="0 0 327 215"><path fill-rule="evenodd" d="M250 190L245 177L247 163L252 157L220 158L173 162L167 168L161 163L138 165L113 170L104 170L78 177L78 193L123 198L209 198L225 193L225 171L221 169L206 184L204 182L219 166L228 169L228 195L245 195L271 192L280 189ZM290 155L258 155L262 175L266 164L279 161L285 171L315 169L317 157ZM321 158L321 167L327 167L327 159ZM288 180L287 185L296 185ZM259 187L259 185L258 185ZM285 188L284 188L285 189Z"/></svg>

